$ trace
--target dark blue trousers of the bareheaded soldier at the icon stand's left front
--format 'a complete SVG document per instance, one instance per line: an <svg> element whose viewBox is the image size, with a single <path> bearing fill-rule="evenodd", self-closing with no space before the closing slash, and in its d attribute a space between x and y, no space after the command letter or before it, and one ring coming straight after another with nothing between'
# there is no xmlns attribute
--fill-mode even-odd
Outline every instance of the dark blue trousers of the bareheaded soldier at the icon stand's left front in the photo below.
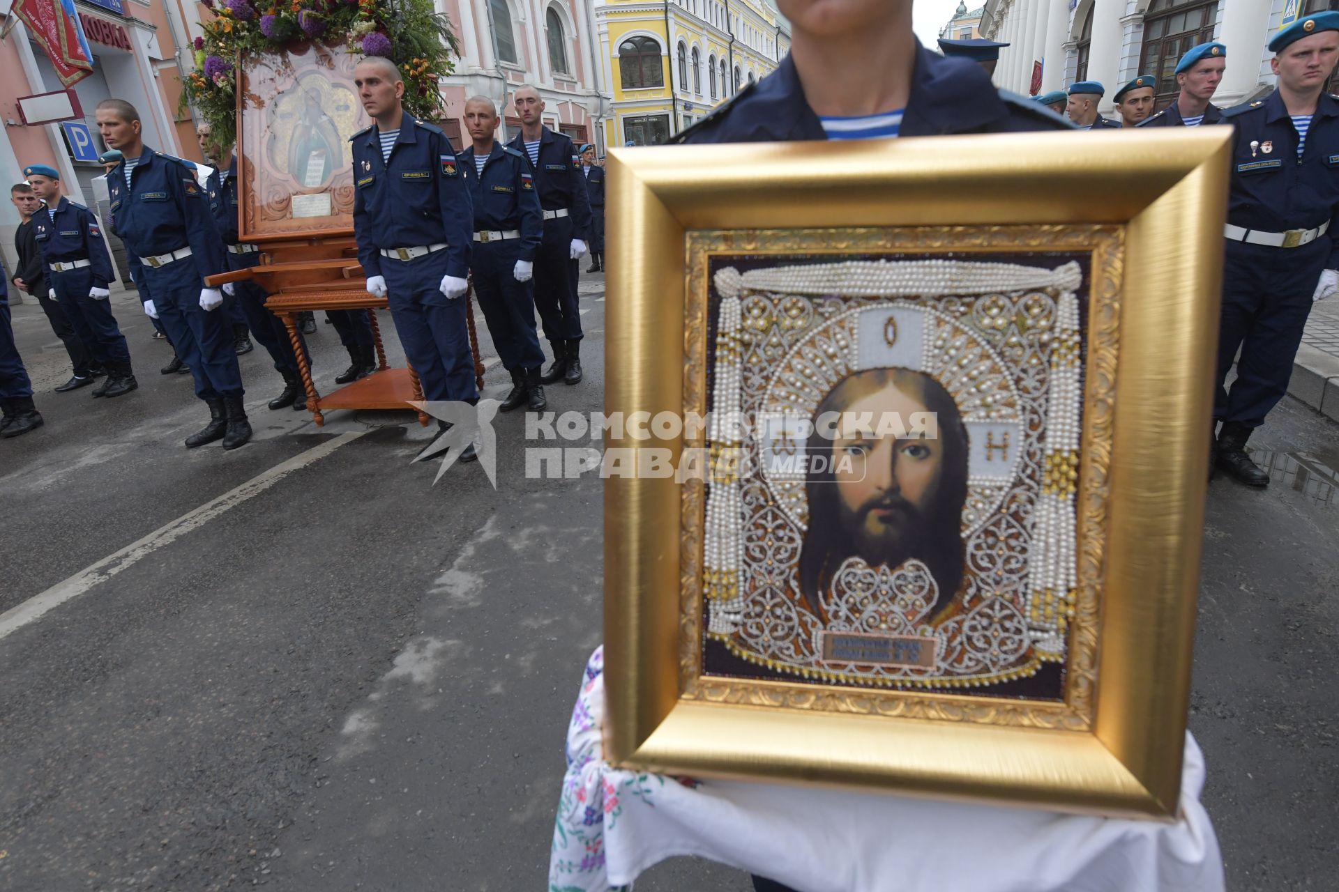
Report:
<svg viewBox="0 0 1339 892"><path fill-rule="evenodd" d="M177 356L195 378L195 396L201 400L241 396L242 373L233 352L233 322L224 306L210 313L200 309L204 284L195 265L179 259L158 269L146 266L143 271L158 318Z"/></svg>

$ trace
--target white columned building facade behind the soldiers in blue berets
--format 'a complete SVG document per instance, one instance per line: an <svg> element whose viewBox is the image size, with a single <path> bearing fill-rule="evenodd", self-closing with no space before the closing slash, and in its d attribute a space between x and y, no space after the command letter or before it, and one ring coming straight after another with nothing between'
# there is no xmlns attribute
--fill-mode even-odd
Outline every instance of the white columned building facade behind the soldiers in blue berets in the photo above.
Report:
<svg viewBox="0 0 1339 892"><path fill-rule="evenodd" d="M995 83L1027 94L1042 68L1040 92L1075 80L1099 80L1111 94L1138 75L1158 79L1158 108L1176 98L1176 64L1209 40L1228 48L1228 67L1213 96L1229 107L1273 90L1269 37L1293 16L1339 7L1339 0L988 0L983 37L1003 40ZM1331 86L1334 90L1334 86Z"/></svg>

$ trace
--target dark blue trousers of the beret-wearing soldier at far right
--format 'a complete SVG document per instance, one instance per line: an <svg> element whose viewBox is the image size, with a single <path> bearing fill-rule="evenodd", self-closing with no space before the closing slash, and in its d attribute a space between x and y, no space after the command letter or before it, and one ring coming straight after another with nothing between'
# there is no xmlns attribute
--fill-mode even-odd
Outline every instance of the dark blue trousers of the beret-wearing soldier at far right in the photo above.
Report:
<svg viewBox="0 0 1339 892"><path fill-rule="evenodd" d="M1330 250L1328 238L1292 249L1228 242L1214 420L1257 428L1288 392L1292 360L1311 314L1311 296ZM1228 391L1224 381L1239 348L1237 378Z"/></svg>

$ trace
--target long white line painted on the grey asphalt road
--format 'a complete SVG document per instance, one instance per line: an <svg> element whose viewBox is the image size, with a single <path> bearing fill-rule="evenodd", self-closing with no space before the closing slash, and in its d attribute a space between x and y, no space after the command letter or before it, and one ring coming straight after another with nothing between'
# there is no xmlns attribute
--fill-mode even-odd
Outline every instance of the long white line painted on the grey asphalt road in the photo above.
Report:
<svg viewBox="0 0 1339 892"><path fill-rule="evenodd" d="M143 539L131 542L121 551L112 552L98 563L84 567L64 582L58 582L51 588L33 595L21 604L11 607L0 614L0 638L4 638L16 629L27 626L48 610L63 604L71 598L78 598L98 583L107 582L122 570L133 567L154 551L158 551L163 546L175 542L187 532L205 526L229 508L234 508L252 496L269 489L293 471L305 468L307 465L324 459L335 449L340 448L345 443L356 440L364 433L367 433L367 431L351 431L349 433L341 433L337 437L321 443L320 445L312 447L307 452L295 455L288 461L276 464L273 468L256 475L246 483L229 489L217 499L206 501L198 508L187 511L175 520L158 527Z"/></svg>

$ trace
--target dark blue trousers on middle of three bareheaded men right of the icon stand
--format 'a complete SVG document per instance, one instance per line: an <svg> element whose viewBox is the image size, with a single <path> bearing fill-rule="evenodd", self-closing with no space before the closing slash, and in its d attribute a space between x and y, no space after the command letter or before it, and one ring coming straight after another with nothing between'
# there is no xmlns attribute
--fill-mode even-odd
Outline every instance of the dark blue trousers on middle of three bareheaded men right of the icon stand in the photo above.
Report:
<svg viewBox="0 0 1339 892"><path fill-rule="evenodd" d="M479 298L479 309L502 368L509 372L544 365L544 350L534 330L534 280L518 282L511 274L521 254L520 246L518 238L479 242L470 257L474 294Z"/></svg>

